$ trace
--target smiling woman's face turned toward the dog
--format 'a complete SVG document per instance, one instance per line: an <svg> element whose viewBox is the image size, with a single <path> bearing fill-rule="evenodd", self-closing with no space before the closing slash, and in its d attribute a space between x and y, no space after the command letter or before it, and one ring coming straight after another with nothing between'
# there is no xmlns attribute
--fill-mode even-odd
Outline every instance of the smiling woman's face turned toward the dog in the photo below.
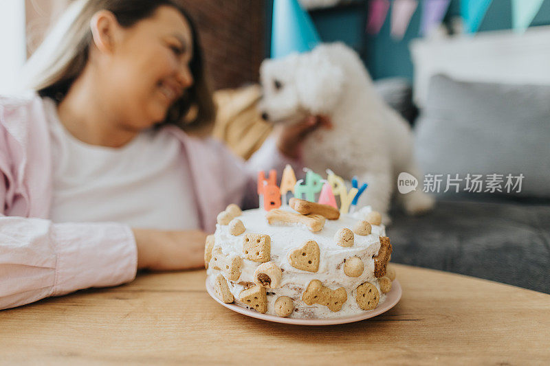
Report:
<svg viewBox="0 0 550 366"><path fill-rule="evenodd" d="M103 68L104 98L121 124L141 130L164 121L168 108L193 83L192 31L184 16L160 6L132 27L117 27L115 47Z"/></svg>

